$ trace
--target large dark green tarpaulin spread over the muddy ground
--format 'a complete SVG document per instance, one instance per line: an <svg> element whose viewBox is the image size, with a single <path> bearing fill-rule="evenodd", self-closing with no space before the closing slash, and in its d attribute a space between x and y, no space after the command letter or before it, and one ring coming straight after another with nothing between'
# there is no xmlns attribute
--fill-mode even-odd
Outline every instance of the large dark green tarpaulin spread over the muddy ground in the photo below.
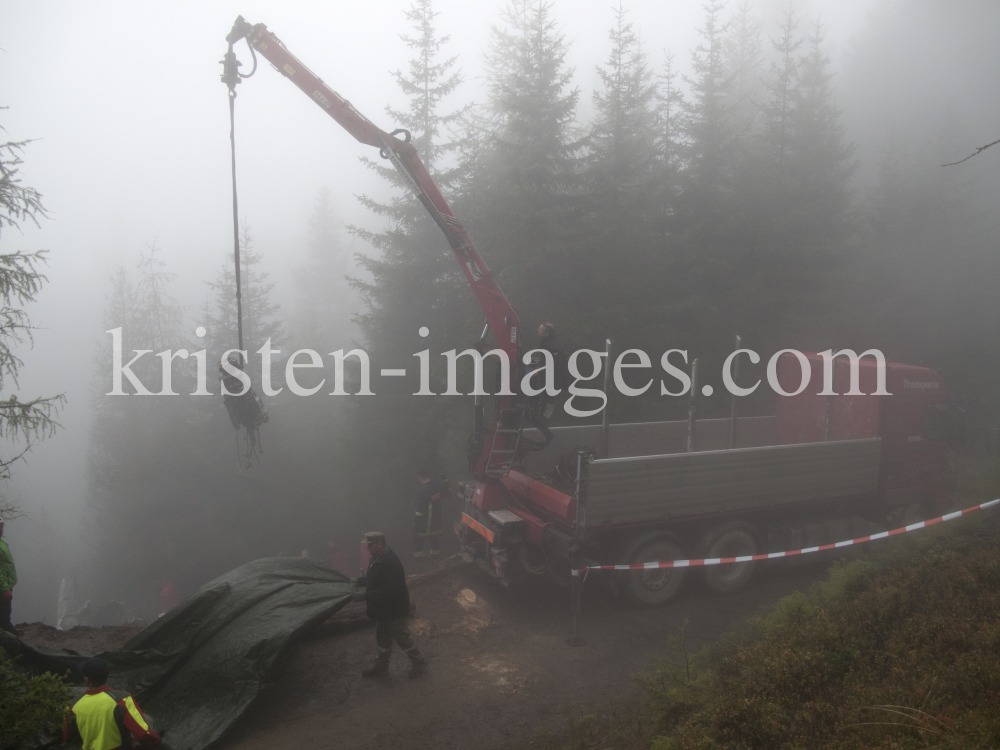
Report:
<svg viewBox="0 0 1000 750"><path fill-rule="evenodd" d="M356 587L323 563L270 557L202 586L138 633L111 664L108 684L135 695L173 750L202 750L246 710L296 636L351 601ZM34 670L65 671L85 656L0 646Z"/></svg>

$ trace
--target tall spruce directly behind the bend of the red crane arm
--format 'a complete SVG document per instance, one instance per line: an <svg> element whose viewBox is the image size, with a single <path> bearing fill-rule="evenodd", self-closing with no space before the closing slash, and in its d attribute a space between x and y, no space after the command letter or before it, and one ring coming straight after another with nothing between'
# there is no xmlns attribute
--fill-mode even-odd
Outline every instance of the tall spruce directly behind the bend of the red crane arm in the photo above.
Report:
<svg viewBox="0 0 1000 750"><path fill-rule="evenodd" d="M459 174L454 155L460 143L452 129L469 112L464 107L446 109L462 77L456 58L445 53L448 37L438 31L438 15L431 0L418 0L405 13L412 33L401 39L412 57L394 77L407 106L389 106L386 112L395 126L410 131L421 161L454 205ZM375 482L373 494L391 498L410 491L419 468L440 468L438 453L447 433L448 410L459 406L453 399L410 396L418 390L413 355L422 349L431 351L431 391L443 391L443 358L437 355L456 346L465 348L474 336L478 309L447 239L400 175L385 162L367 157L363 161L391 186L392 196L387 200L361 197L362 205L383 221L382 228L350 228L375 251L357 256L366 275L351 281L363 304L355 320L373 371L405 368L410 377L383 381L377 399L346 404L353 440L345 450L355 457L357 466L367 465L374 455L387 457L377 477L369 473L365 480ZM460 210L456 213L465 221ZM418 335L422 327L429 330L427 338ZM455 446L446 452L461 454ZM387 502L369 509L390 525L401 522L394 516L398 510L399 506Z"/></svg>

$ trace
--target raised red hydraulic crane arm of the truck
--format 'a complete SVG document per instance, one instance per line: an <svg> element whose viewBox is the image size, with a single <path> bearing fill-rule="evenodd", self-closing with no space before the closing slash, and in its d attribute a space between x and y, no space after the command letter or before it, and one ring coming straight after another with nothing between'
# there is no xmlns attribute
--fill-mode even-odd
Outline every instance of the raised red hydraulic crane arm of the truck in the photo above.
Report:
<svg viewBox="0 0 1000 750"><path fill-rule="evenodd" d="M241 78L236 67L238 63L233 53L233 45L241 39L246 39L252 50L256 50L268 60L347 132L361 143L378 148L379 154L392 162L407 186L427 209L431 218L444 232L445 237L448 238L448 244L455 253L455 257L462 267L462 272L486 315L489 327L493 330L498 348L506 352L512 372L517 373L518 344L520 343L517 313L514 312L514 308L511 307L510 302L500 290L493 274L466 234L462 223L455 218L455 214L452 213L448 202L441 195L434 180L431 179L416 149L409 143L410 134L405 130L386 133L377 128L349 101L327 86L295 55L289 52L281 41L267 30L264 24L251 24L242 16L236 19L232 31L226 37L226 41L229 42L229 52L223 60L225 69L222 80L229 85L231 96L235 96L235 87ZM404 137L398 138L398 135ZM498 407L509 407L512 398L511 396L500 396ZM494 426L495 429L496 426ZM506 436L497 435L496 437L499 438L501 448L508 443ZM497 441L494 441L494 447L496 446ZM488 460L487 452L487 450L483 450L477 462L475 470L477 478L484 476Z"/></svg>

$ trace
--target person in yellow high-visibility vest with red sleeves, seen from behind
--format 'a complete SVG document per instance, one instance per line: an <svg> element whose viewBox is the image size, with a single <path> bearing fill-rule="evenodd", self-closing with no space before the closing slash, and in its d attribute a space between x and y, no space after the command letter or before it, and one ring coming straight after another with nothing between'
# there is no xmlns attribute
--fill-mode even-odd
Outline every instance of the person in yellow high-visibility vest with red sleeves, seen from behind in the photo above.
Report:
<svg viewBox="0 0 1000 750"><path fill-rule="evenodd" d="M87 692L69 710L63 723L63 742L80 743L83 750L112 750L160 747L154 732L135 699L124 690L108 687L108 663L87 659L77 669L83 673Z"/></svg>

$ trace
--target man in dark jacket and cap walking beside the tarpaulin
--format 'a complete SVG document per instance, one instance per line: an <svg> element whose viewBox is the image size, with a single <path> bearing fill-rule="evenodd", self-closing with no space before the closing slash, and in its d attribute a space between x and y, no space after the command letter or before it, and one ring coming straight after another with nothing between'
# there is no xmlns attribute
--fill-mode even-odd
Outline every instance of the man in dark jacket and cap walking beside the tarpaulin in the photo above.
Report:
<svg viewBox="0 0 1000 750"><path fill-rule="evenodd" d="M363 677L384 677L389 674L389 657L392 642L410 657L413 666L410 677L419 677L427 668L424 657L410 635L406 616L410 614L410 593L406 590L406 574L399 557L385 543L385 534L369 531L364 544L371 561L365 575L358 579L359 591L354 600L367 604L367 614L375 621L375 645L378 657L375 664L362 672Z"/></svg>

